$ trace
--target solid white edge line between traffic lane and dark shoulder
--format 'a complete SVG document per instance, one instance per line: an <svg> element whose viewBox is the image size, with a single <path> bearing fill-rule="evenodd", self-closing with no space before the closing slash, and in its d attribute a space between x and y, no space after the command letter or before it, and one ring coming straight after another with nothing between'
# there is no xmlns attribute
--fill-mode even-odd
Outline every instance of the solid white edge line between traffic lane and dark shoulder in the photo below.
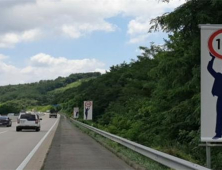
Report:
<svg viewBox="0 0 222 170"><path fill-rule="evenodd" d="M60 115L59 115L58 119L56 120L56 122L53 124L53 126L49 129L49 131L45 134L45 136L39 141L39 143L33 148L33 150L28 154L28 156L24 159L24 161L18 166L18 168L16 170L23 170L25 168L27 163L30 161L30 159L33 157L35 152L41 146L42 142L45 140L45 138L49 135L49 133L51 132L53 127L56 125L56 123L58 122L59 118L60 118Z"/></svg>

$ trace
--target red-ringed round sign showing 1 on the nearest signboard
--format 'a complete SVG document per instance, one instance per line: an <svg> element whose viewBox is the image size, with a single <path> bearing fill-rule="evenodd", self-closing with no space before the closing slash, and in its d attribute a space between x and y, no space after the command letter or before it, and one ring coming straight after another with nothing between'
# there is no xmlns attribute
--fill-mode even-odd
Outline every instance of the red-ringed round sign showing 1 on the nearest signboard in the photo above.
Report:
<svg viewBox="0 0 222 170"><path fill-rule="evenodd" d="M210 36L208 48L211 54L222 59L222 29L219 29Z"/></svg>

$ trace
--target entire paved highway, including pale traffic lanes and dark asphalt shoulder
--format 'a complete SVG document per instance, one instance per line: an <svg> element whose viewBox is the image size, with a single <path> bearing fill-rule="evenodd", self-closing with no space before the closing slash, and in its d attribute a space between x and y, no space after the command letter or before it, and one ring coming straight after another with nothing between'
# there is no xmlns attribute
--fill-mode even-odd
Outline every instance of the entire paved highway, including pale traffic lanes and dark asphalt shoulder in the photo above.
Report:
<svg viewBox="0 0 222 170"><path fill-rule="evenodd" d="M12 127L0 127L0 170L133 170L63 115L41 118L40 132L16 132L15 117Z"/></svg>

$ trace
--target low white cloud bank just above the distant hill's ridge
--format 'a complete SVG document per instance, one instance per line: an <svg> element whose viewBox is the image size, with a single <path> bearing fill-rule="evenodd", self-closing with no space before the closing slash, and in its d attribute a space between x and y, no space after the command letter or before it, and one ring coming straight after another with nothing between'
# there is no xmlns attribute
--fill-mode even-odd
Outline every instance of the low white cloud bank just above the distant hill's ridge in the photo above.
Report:
<svg viewBox="0 0 222 170"><path fill-rule="evenodd" d="M71 60L39 53L30 57L27 66L17 68L6 64L1 58L4 59L6 56L0 54L0 85L55 79L58 76L68 76L72 73L95 71L105 73L105 64L96 59Z"/></svg>

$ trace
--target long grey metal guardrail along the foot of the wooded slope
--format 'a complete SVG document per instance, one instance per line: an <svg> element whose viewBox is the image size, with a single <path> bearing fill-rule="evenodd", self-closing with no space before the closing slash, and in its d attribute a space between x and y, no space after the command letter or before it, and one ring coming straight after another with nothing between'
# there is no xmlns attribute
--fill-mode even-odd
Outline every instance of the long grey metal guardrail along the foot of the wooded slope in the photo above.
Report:
<svg viewBox="0 0 222 170"><path fill-rule="evenodd" d="M92 126L86 125L84 123L81 123L79 121L76 121L71 118L73 122L75 122L78 125L81 125L87 129L90 129L94 131L95 133L98 133L106 138L109 138L112 141L115 141L137 153L140 153L162 165L165 165L169 168L176 169L176 170L210 170L206 167L200 166L198 164L177 158L172 155L168 155L166 153L151 149L149 147L146 147L144 145L132 142L130 140L124 139L122 137L113 135L111 133L102 131L100 129L94 128Z"/></svg>

